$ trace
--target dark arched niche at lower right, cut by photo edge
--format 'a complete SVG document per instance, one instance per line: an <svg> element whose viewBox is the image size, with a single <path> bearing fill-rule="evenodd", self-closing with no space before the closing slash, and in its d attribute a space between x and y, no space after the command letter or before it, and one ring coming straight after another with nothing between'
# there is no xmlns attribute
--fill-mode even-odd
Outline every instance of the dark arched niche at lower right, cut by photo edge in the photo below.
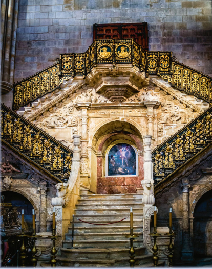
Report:
<svg viewBox="0 0 212 269"><path fill-rule="evenodd" d="M194 256L212 257L212 190L199 198L194 209Z"/></svg>

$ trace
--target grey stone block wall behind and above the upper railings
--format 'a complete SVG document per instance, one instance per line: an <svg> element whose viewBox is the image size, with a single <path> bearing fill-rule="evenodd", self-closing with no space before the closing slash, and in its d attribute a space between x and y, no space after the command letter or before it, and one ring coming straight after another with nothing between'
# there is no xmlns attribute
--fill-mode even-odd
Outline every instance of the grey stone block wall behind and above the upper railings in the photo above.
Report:
<svg viewBox="0 0 212 269"><path fill-rule="evenodd" d="M54 63L59 53L85 52L94 23L149 24L149 50L173 51L205 74L211 69L211 1L20 0L15 82Z"/></svg>

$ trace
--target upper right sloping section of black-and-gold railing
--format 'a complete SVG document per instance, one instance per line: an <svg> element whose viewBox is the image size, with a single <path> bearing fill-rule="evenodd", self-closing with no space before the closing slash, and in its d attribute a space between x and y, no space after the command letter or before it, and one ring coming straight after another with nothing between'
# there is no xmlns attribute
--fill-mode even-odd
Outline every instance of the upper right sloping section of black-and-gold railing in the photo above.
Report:
<svg viewBox="0 0 212 269"><path fill-rule="evenodd" d="M173 74L162 75L164 79L168 79L171 86L179 90L183 90L188 94L210 103L212 100L212 78L202 74L201 72L190 68L176 61L173 57L172 61Z"/></svg>

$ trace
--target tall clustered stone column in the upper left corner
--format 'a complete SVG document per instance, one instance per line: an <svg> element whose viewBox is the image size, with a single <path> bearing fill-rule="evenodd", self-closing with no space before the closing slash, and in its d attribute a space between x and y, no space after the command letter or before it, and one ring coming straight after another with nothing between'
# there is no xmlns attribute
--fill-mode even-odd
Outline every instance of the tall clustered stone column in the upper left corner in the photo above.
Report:
<svg viewBox="0 0 212 269"><path fill-rule="evenodd" d="M13 88L18 1L3 0L1 2L0 83L2 94Z"/></svg>

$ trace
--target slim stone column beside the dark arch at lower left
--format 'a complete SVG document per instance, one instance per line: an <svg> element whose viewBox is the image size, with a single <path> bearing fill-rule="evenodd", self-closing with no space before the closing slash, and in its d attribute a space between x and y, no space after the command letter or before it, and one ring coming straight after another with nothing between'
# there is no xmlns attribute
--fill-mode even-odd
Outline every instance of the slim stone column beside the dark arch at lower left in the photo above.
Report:
<svg viewBox="0 0 212 269"><path fill-rule="evenodd" d="M40 221L39 221L39 232L47 231L47 183L46 181L40 181Z"/></svg>

